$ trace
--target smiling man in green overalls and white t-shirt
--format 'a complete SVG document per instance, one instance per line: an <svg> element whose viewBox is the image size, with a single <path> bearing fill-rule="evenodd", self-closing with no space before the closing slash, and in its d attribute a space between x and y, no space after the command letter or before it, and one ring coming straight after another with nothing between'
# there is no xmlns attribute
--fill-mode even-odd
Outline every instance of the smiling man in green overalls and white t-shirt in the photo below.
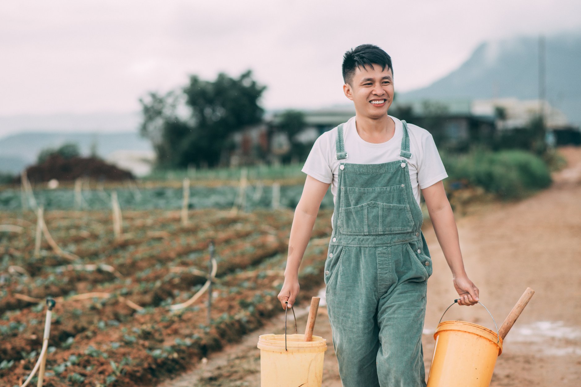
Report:
<svg viewBox="0 0 581 387"><path fill-rule="evenodd" d="M304 164L278 299L283 307L295 302L300 261L331 185L335 210L324 280L343 386L425 387L422 331L432 259L421 231L420 189L458 303L477 303L478 288L464 270L432 135L388 114L391 58L377 46L357 46L345 53L343 80L356 115L322 134Z"/></svg>

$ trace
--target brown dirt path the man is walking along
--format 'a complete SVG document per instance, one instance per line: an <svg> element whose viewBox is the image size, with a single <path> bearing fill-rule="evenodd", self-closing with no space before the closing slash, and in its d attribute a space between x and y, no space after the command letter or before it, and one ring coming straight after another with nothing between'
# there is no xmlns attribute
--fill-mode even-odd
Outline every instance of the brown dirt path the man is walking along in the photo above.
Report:
<svg viewBox="0 0 581 387"><path fill-rule="evenodd" d="M480 207L457 222L467 273L498 325L527 286L536 291L504 341L491 387L577 387L581 380L581 148L562 148L561 152L568 167L554 175L551 188L518 203ZM428 281L423 338L428 370L437 321L457 293L435 233L428 228L425 236L434 265ZM306 303L302 307L297 310L299 332L306 325ZM479 305L454 306L446 320L465 320L494 329L490 316ZM264 333L281 333L283 327L281 314L241 343L159 387L259 386L257 338ZM323 386L340 387L331 328L322 313L315 334L328 343Z"/></svg>

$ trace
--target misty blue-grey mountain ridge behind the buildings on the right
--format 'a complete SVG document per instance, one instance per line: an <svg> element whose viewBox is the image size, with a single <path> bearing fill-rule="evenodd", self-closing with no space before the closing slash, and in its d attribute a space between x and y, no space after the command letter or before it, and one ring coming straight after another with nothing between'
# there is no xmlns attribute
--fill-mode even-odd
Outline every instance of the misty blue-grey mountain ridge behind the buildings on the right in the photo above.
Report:
<svg viewBox="0 0 581 387"><path fill-rule="evenodd" d="M544 38L546 99L581 125L581 31ZM456 70L426 87L398 95L417 99L539 98L539 37L483 42Z"/></svg>

